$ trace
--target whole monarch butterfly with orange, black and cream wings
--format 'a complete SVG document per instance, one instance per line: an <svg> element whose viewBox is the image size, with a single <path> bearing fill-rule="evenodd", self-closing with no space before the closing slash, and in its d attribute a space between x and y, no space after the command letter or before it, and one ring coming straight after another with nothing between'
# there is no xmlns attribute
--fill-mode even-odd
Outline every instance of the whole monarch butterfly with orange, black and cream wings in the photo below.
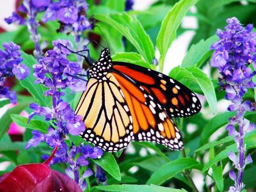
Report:
<svg viewBox="0 0 256 192"><path fill-rule="evenodd" d="M131 141L154 141L172 150L183 148L171 118L200 111L195 93L154 70L112 61L110 51L90 66L87 89L76 107L86 130L81 137L108 152Z"/></svg>

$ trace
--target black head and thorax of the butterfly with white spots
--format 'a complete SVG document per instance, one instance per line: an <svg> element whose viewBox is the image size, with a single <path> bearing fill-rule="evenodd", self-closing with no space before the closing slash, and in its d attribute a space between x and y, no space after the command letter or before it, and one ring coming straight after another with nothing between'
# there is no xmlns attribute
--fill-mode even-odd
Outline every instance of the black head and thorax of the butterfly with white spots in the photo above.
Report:
<svg viewBox="0 0 256 192"><path fill-rule="evenodd" d="M109 49L105 48L101 51L100 58L92 64L89 74L93 78L104 80L104 77L110 68L112 68L112 59L110 57Z"/></svg>

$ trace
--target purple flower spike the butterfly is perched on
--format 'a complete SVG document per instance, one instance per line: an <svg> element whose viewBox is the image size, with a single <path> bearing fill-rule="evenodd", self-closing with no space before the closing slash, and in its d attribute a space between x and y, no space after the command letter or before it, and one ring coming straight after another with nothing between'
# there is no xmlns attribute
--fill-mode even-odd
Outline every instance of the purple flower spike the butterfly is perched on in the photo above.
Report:
<svg viewBox="0 0 256 192"><path fill-rule="evenodd" d="M82 117L76 115L69 103L63 101L63 89L69 87L74 91L83 91L86 88L86 82L76 77L77 73L82 72L77 62L71 62L67 56L71 54L72 44L67 40L53 41L53 49L46 52L38 64L34 67L34 77L38 78L36 83L43 84L48 88L45 95L52 98L52 107L43 107L31 103L30 108L34 110L29 120L34 115L44 116L49 121L51 127L48 132L43 134L38 131L33 132L33 137L28 141L26 148L36 147L40 142L45 141L49 147L59 147L51 164L67 163L69 168L65 170L66 174L74 181L79 183L82 189L86 188L85 178L92 175L92 170L87 169L82 173L80 166L88 166L89 158L100 158L103 151L97 147L81 144L79 146L71 145L68 147L66 140L69 135L80 135L85 131L85 124ZM43 155L47 159L48 155Z"/></svg>

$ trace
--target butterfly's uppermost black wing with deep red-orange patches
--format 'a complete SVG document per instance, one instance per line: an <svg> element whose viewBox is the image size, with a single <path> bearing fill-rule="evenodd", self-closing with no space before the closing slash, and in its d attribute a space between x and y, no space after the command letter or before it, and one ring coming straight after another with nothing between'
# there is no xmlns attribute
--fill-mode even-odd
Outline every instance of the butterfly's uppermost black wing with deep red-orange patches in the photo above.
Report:
<svg viewBox="0 0 256 192"><path fill-rule="evenodd" d="M191 116L201 109L195 93L162 73L126 62L113 62L113 68L143 87L173 118Z"/></svg>

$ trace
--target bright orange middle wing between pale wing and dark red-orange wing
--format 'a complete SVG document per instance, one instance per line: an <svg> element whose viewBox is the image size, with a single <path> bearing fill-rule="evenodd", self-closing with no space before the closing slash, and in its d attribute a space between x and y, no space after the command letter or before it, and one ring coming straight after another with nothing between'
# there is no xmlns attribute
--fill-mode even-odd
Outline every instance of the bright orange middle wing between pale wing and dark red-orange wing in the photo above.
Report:
<svg viewBox="0 0 256 192"><path fill-rule="evenodd" d="M179 130L159 102L137 82L116 70L112 71L125 96L133 119L133 140L155 141L172 150L183 148Z"/></svg>

